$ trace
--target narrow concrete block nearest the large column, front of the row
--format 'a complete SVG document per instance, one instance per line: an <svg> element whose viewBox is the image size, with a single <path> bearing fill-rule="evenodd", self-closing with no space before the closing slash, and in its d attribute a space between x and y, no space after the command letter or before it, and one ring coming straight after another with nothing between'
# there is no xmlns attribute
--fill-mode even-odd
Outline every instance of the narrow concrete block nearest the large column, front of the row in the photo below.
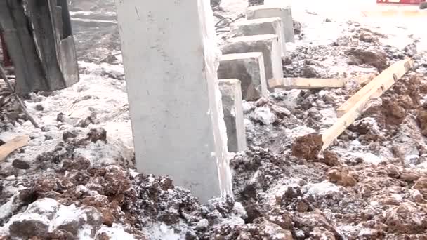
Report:
<svg viewBox="0 0 427 240"><path fill-rule="evenodd" d="M247 148L242 107L242 89L238 79L220 79L223 112L227 127L228 151L241 152Z"/></svg>

